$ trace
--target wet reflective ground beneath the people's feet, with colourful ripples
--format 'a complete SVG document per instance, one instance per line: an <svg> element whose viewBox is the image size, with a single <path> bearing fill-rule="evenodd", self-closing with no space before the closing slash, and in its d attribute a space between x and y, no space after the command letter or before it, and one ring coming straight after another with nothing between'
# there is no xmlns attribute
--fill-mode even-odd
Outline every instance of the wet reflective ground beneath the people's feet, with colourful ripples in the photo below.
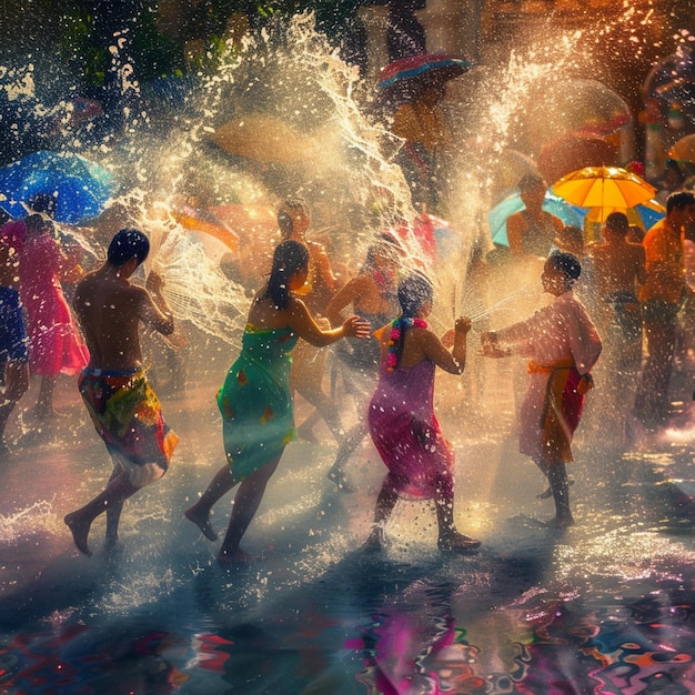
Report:
<svg viewBox="0 0 695 695"><path fill-rule="evenodd" d="M695 692L687 419L625 447L587 413L572 466L577 525L558 532L545 523L552 502L536 500L540 473L516 452L504 374L486 373L496 405L485 409L471 403L474 383L444 376L440 394L463 402L440 400L456 518L482 538L477 553L440 554L433 508L406 502L389 548L361 551L383 467L365 443L350 463L357 492L339 492L320 425L324 443L290 445L269 485L244 540L259 560L230 571L182 516L222 462L219 381L162 389L181 443L167 476L127 503L110 557L101 518L91 558L62 523L110 473L73 383L60 382L58 426L12 425L22 439L0 464L0 693ZM229 511L224 498L218 530Z"/></svg>

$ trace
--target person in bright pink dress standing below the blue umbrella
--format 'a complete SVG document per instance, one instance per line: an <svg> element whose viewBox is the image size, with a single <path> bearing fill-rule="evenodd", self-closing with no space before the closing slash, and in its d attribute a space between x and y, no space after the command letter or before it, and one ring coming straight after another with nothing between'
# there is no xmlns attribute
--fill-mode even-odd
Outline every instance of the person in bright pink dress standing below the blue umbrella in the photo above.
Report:
<svg viewBox="0 0 695 695"><path fill-rule="evenodd" d="M39 214L50 213L50 201L38 198L31 208L34 213L26 220L27 239L20 255L20 296L28 318L29 369L32 375L41 377L32 413L37 420L48 420L57 415L53 391L58 375L79 374L89 362L89 351L61 283L75 263L61 252L53 223Z"/></svg>

